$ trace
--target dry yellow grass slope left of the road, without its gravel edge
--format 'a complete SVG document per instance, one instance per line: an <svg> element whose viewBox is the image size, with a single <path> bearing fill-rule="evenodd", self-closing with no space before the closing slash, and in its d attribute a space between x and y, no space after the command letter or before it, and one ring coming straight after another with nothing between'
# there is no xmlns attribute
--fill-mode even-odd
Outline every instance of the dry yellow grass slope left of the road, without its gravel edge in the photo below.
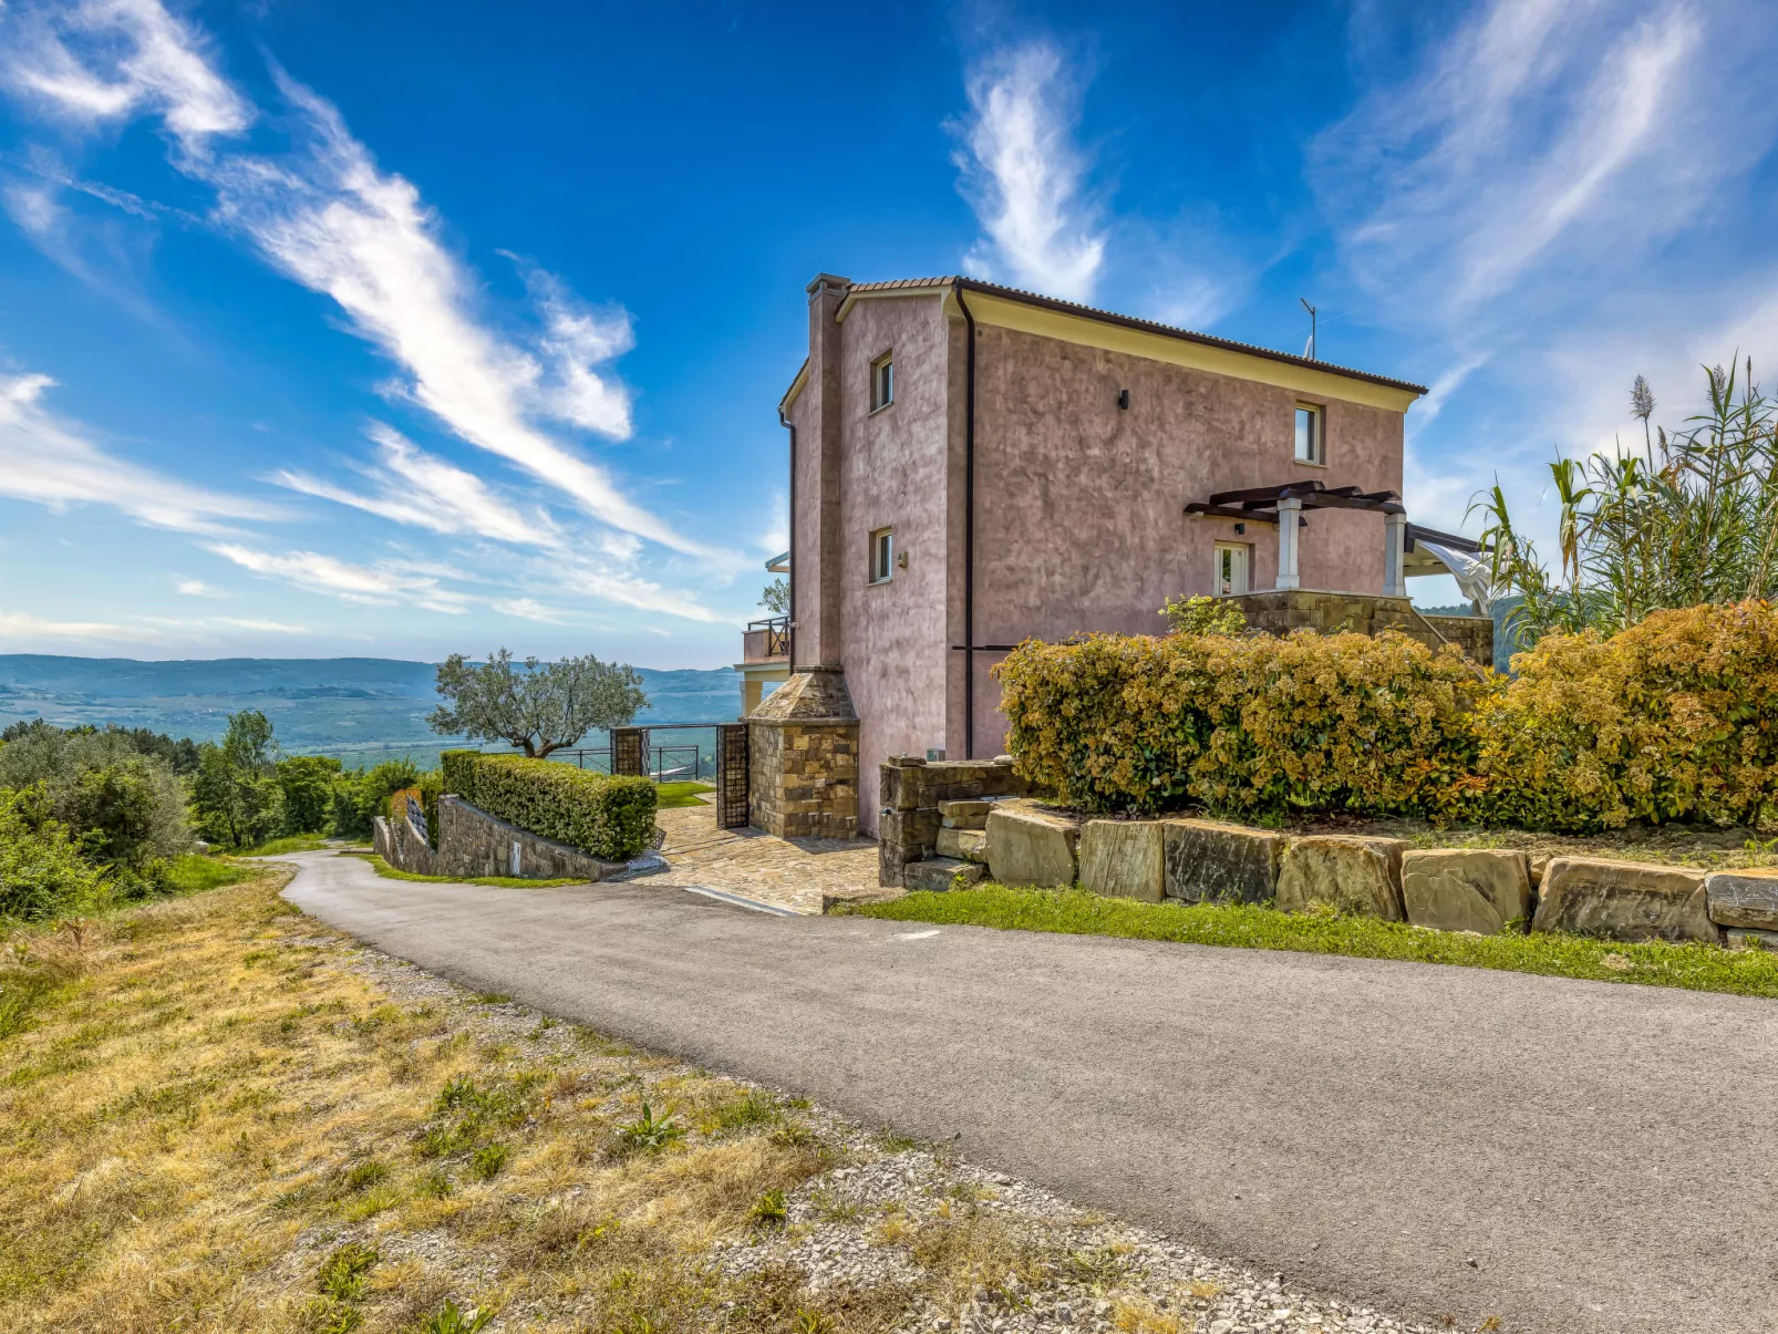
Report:
<svg viewBox="0 0 1778 1334"><path fill-rule="evenodd" d="M398 1003L283 873L11 941L0 987L32 1005L0 1044L0 1327L448 1334L596 1307L644 1334L725 1300L795 1323L795 1284L718 1293L692 1259L843 1149L733 1081L501 1033L501 998Z"/></svg>

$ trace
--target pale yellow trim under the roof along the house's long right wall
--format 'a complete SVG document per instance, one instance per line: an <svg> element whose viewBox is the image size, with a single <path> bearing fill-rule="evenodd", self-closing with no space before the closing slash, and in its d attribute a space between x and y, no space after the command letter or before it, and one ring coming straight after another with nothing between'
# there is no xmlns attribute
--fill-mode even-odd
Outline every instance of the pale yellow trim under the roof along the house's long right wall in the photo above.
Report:
<svg viewBox="0 0 1778 1334"><path fill-rule="evenodd" d="M989 292L969 292L969 313L976 317L976 324L992 324L1001 329L1056 338L1063 343L1077 343L1081 347L1099 347L1106 352L1124 352L1125 356L1147 358L1149 361L1166 361L1168 365L1189 366L1191 370L1209 370L1216 375L1275 384L1293 393L1339 398L1341 402L1382 407L1390 413L1406 413L1414 400L1419 398L1412 390L1396 390L1330 370L1273 361L1229 347L1168 338L1166 334L1147 333L1145 329L1129 329L1120 324L1093 320L1086 315L1028 306L1022 301L1008 301Z"/></svg>

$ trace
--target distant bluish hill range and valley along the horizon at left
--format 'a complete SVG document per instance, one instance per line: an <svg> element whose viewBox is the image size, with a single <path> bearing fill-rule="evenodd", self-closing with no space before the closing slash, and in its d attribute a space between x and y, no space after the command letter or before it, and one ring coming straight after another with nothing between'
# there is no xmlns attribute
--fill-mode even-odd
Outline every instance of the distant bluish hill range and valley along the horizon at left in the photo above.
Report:
<svg viewBox="0 0 1778 1334"><path fill-rule="evenodd" d="M637 722L727 722L741 710L731 667L638 667L649 708ZM43 717L57 726L153 727L217 740L228 715L256 708L288 752L336 754L347 763L409 756L430 765L450 745L427 726L439 703L434 669L398 658L213 658L139 662L0 655L0 727ZM603 736L589 736L599 743Z"/></svg>

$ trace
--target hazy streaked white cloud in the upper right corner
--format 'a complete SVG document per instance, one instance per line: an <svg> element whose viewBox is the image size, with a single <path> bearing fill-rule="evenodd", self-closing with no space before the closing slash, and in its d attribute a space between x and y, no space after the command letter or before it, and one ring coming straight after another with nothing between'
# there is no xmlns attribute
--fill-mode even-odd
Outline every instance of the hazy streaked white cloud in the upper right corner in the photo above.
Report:
<svg viewBox="0 0 1778 1334"><path fill-rule="evenodd" d="M1636 263L1771 142L1709 37L1684 0L1479 5L1314 146L1353 274L1442 322L1554 263Z"/></svg>

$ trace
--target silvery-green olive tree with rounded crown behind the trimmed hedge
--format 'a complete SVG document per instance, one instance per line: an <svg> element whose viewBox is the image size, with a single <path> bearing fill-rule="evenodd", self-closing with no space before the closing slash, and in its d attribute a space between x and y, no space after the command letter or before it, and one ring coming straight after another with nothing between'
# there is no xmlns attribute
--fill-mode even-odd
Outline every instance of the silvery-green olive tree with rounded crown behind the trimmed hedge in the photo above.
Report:
<svg viewBox="0 0 1778 1334"><path fill-rule="evenodd" d="M581 658L512 662L501 649L471 663L461 653L437 669L437 692L450 704L432 710L434 731L507 742L541 759L589 731L624 727L647 708L642 678L628 663Z"/></svg>

